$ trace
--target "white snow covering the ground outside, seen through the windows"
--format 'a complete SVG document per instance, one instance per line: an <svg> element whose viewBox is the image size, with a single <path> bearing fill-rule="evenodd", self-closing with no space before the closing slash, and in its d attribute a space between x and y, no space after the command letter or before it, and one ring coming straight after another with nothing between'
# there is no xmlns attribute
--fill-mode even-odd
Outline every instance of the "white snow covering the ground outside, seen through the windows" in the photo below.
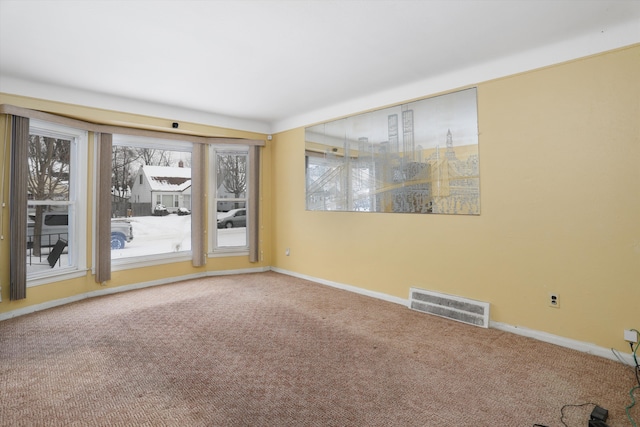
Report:
<svg viewBox="0 0 640 427"><path fill-rule="evenodd" d="M191 250L191 216L139 216L128 218L133 226L133 240L123 249L111 251L111 259L184 252ZM247 229L245 227L218 229L218 246L245 246ZM27 254L27 275L51 271L47 256L50 248L42 248L40 258ZM68 249L68 248L67 248ZM68 250L65 249L54 268L64 267L68 262Z"/></svg>

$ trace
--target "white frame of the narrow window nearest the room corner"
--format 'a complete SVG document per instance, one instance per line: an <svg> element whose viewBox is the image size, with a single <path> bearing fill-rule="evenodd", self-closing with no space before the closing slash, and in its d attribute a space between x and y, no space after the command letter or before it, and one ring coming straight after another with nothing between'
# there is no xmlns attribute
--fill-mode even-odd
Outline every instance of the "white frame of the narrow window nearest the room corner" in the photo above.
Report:
<svg viewBox="0 0 640 427"><path fill-rule="evenodd" d="M216 163L216 156L218 153L238 153L245 154L247 158L247 166L246 166L246 178L245 181L247 183L247 188L245 189L245 196L243 198L218 198L217 190L218 190L218 182L217 182L217 169L218 165ZM244 256L249 255L250 253L250 234L249 234L249 206L251 203L250 200L250 186L251 186L251 173L252 173L252 165L251 165L251 155L250 155L250 147L248 145L229 145L229 144L211 144L209 146L209 171L211 174L211 178L209 180L209 218L208 218L208 228L209 228L209 239L208 246L209 250L207 252L207 256L209 258L215 257L227 257L227 256ZM244 209L246 210L246 229L245 229L245 245L244 246L218 246L218 201L225 202L244 202Z"/></svg>

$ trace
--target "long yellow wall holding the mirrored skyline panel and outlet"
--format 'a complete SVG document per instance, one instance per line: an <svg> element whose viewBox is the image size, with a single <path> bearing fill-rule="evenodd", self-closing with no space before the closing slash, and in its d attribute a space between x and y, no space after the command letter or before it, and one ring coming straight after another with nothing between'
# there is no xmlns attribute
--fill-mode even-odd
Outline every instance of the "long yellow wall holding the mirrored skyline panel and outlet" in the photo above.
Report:
<svg viewBox="0 0 640 427"><path fill-rule="evenodd" d="M478 84L480 216L307 212L304 129L275 135L272 265L401 298L414 286L488 301L495 322L628 352L638 76L640 45Z"/></svg>

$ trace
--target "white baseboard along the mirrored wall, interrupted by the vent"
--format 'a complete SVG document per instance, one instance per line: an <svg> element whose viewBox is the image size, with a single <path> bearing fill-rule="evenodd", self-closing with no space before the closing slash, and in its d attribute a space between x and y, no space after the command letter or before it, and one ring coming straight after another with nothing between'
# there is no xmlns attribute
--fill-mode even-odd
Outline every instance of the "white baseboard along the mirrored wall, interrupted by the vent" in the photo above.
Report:
<svg viewBox="0 0 640 427"><path fill-rule="evenodd" d="M307 276L305 274L299 274L299 273L295 273L292 271L287 271L287 270L283 270L280 268L271 268L272 271L275 271L277 273L282 273L282 274L286 274L289 276L293 276L293 277L298 277L300 279L305 279L305 280L309 280L312 282L316 282L316 283L320 283L323 285L328 285L334 288L338 288L338 289L344 289L347 291L351 291L351 292L355 292L358 294L362 294L362 295L367 295L373 298L378 298L384 301L389 301L389 302L394 302L396 304L401 304L404 305L406 307L409 306L409 300L408 299L402 299L402 298L398 298L398 297L394 297L391 295L387 295L387 294L383 294L380 292L373 292L373 291L368 291L366 289L362 289L362 288L358 288L355 286L351 286L351 285L345 285L342 283L337 283L337 282L331 282L329 280L324 280L324 279L319 279L317 277L312 277L312 276ZM611 360L615 360L618 362L623 362L629 366L635 366L634 361L633 361L633 356L631 354L627 354L627 353L621 353L619 351L616 352L616 354L614 354L612 349L608 349L605 347L600 347L597 346L595 344L591 344L591 343L585 343L582 341L577 341L577 340L573 340L570 338L565 338L565 337L561 337L559 335L553 335L553 334L549 334L547 332L541 332L541 331L536 331L534 329L527 329L527 328L523 328L520 326L512 326L512 325L508 325L506 323L501 323L501 322L494 322L494 321L489 321L489 327L490 328L495 328L495 329L499 329L501 331L505 331L505 332L511 332L517 335L522 335L525 337L529 337L529 338L533 338L536 339L538 341L543 341L543 342L547 342L550 344L555 344L555 345L559 345L561 347L566 347L566 348L570 348L572 350L577 350L583 353L587 353L587 354L593 354L595 356L600 356L603 357L605 359L611 359Z"/></svg>

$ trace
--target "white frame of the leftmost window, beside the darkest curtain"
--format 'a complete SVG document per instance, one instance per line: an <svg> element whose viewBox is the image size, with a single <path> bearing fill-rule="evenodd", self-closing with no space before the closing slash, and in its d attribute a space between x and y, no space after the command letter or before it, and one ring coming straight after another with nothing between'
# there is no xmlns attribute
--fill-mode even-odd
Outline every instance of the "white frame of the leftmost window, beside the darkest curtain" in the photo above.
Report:
<svg viewBox="0 0 640 427"><path fill-rule="evenodd" d="M69 200L34 201L27 200L27 205L65 205L69 213L68 236L68 266L57 267L35 273L27 273L26 286L34 287L52 282L82 277L87 267L87 194L88 160L89 160L89 132L58 123L40 119L30 119L29 135L43 135L70 141L69 147Z"/></svg>

